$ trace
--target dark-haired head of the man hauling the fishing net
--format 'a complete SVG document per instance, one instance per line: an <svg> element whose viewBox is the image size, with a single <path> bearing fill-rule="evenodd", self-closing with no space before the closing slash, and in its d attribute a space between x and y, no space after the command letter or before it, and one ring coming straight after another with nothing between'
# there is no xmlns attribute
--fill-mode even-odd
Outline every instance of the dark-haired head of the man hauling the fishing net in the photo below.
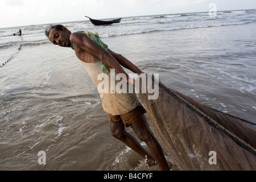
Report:
<svg viewBox="0 0 256 182"><path fill-rule="evenodd" d="M68 28L62 26L61 24L51 26L49 30L46 30L45 33L53 44L61 47L71 46L71 42L69 40L71 32L68 30Z"/></svg>

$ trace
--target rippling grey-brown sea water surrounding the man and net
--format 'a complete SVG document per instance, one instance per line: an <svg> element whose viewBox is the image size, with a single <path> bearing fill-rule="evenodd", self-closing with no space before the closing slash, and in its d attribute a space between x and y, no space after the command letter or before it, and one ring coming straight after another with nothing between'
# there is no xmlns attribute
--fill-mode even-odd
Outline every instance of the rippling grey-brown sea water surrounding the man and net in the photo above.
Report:
<svg viewBox="0 0 256 182"><path fill-rule="evenodd" d="M255 9L54 24L98 32L169 88L256 123ZM158 170L112 137L96 86L71 48L49 42L48 27L0 28L0 170Z"/></svg>

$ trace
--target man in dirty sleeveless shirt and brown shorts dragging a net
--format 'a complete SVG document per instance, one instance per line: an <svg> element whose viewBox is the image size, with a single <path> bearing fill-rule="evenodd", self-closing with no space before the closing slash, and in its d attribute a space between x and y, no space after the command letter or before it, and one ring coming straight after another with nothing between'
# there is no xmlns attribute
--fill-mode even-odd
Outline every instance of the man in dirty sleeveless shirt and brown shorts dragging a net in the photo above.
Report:
<svg viewBox="0 0 256 182"><path fill-rule="evenodd" d="M46 30L46 36L57 46L74 49L76 56L96 86L99 82L98 74L108 73L109 68L115 69L115 74L125 75L123 79L131 85L134 85L134 80L127 75L121 65L139 75L143 73L125 57L110 50L97 35L91 32L72 33L68 28L56 25ZM141 155L147 160L147 164L158 163L160 170L170 171L162 147L148 126L144 115L146 110L139 103L136 93L102 93L101 100L104 111L109 114L110 130L113 137L121 140ZM131 126L138 138L147 144L152 155L141 146L137 139L125 131L125 127L128 126Z"/></svg>

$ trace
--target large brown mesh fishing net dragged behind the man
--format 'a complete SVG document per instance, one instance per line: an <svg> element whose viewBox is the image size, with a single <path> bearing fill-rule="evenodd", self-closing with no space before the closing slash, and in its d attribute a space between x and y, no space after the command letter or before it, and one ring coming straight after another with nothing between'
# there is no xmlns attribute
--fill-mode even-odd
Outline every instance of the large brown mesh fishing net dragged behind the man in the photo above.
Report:
<svg viewBox="0 0 256 182"><path fill-rule="evenodd" d="M180 170L256 169L254 123L202 105L149 75L148 80L159 85L159 97L149 100L150 93L137 90L139 99L156 138Z"/></svg>

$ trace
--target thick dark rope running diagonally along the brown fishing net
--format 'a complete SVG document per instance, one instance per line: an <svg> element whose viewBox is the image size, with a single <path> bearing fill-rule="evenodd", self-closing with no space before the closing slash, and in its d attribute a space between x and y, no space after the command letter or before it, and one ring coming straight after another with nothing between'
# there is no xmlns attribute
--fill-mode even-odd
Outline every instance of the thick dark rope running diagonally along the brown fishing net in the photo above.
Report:
<svg viewBox="0 0 256 182"><path fill-rule="evenodd" d="M152 75L152 80L154 81L154 75ZM192 105L188 101L184 100L184 98L180 97L178 94L175 92L172 92L170 88L168 88L166 85L164 85L161 81L159 81L159 86L161 88L164 88L167 93L171 94L174 98L178 98L180 101L184 102L185 105L189 106L190 109L196 111L197 114L199 114L201 117L203 117L206 121L209 121L210 123L213 123L216 129L224 131L224 133L228 134L230 137L233 137L233 140L235 142L240 142L245 146L249 151L251 151L254 155L256 155L256 149L252 147L249 143L246 143L244 140L241 138L237 137L237 135L233 134L231 131L226 129L224 126L220 125L217 121L214 119L210 118L207 114L203 113L203 111L199 110L196 106Z"/></svg>

